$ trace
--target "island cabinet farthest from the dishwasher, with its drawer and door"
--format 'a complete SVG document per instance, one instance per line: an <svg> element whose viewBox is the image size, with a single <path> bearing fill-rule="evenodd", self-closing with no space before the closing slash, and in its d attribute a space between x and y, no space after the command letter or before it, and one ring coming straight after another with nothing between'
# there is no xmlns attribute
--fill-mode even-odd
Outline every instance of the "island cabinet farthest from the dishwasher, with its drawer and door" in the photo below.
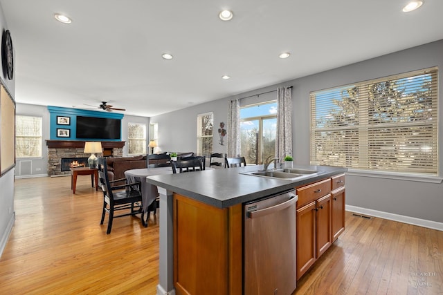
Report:
<svg viewBox="0 0 443 295"><path fill-rule="evenodd" d="M332 180L332 242L345 231L345 175L336 175Z"/></svg>

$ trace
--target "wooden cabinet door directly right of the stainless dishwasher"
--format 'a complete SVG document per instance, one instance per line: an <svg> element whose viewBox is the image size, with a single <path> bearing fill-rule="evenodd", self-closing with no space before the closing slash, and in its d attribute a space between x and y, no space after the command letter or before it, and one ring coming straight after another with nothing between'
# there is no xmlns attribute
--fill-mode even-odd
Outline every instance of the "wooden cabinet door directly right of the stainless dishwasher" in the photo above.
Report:
<svg viewBox="0 0 443 295"><path fill-rule="evenodd" d="M297 280L316 261L316 202L297 210Z"/></svg>

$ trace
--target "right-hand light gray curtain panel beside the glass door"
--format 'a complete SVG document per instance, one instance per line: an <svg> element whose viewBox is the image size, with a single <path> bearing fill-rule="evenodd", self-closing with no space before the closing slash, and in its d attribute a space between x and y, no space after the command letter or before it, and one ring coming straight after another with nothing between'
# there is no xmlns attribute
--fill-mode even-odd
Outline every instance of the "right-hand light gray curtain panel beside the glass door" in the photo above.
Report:
<svg viewBox="0 0 443 295"><path fill-rule="evenodd" d="M275 156L282 161L284 156L292 156L292 87L279 87L277 93L278 115Z"/></svg>

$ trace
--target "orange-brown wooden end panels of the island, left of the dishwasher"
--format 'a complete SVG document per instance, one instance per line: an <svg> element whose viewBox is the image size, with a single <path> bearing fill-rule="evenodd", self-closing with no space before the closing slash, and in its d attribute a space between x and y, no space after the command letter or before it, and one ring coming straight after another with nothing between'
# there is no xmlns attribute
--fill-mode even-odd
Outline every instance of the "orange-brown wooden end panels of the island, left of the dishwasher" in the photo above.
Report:
<svg viewBox="0 0 443 295"><path fill-rule="evenodd" d="M173 215L177 295L242 294L242 204L219 209L174 193Z"/></svg>

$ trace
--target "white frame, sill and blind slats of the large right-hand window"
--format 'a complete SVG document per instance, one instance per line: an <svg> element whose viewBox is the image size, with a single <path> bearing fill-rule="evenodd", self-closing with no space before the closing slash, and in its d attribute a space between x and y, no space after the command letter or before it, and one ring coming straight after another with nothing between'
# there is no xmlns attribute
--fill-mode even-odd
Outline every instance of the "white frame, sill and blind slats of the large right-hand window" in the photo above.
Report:
<svg viewBox="0 0 443 295"><path fill-rule="evenodd" d="M375 112L377 110L380 110L381 108L377 108L377 107L372 107L370 108L371 103L377 102L376 99L371 99L371 92L370 91L366 91L364 92L364 88L368 87L368 86L380 86L380 85L384 85L381 89L383 91L388 91L390 89L392 89L392 85L397 86L398 84L391 84L389 85L390 82L404 82L404 81L408 81L407 83L404 83L403 85L406 85L405 88L403 90L399 90L398 93L403 94L402 96L400 96L401 102L406 101L406 100L410 100L411 97L411 93L418 93L418 90L414 90L411 91L410 93L408 93L407 91L405 91L406 87L412 87L409 86L408 83L410 84L414 84L414 77L420 76L420 75L429 75L432 79L430 79L429 82L425 82L425 83L420 83L420 84L416 84L418 85L416 87L416 89L421 89L421 90L425 90L428 91L430 94L427 95L428 98L426 98L426 100L423 100L422 97L423 96L419 96L419 97L415 97L415 100L413 100L413 102L417 105L419 104L430 104L431 108L427 111L429 111L429 113L431 113L431 119L429 122L432 123L428 123L426 120L417 120L418 122L415 123L413 122L414 120L410 120L411 118L414 119L415 116L414 115L404 115L403 113L399 112L400 115L394 114L394 115L386 115L386 113L383 112ZM416 78L418 79L418 78ZM379 85L376 85L379 84ZM388 85L385 85L388 84ZM403 86L402 85L402 86ZM415 85L414 85L415 86ZM426 88L422 88L422 86L426 86ZM392 88L390 88L392 87ZM334 126L334 125L329 125L329 131L328 128L325 127L327 123L324 123L323 128L322 127L318 127L319 123L316 122L316 120L318 120L318 118L325 118L327 116L329 117L333 117L334 116L334 109L331 108L331 111L329 111L329 113L321 113L322 111L325 111L325 106L323 106L323 109L320 107L320 109L316 109L316 104L320 104L318 102L321 102L322 104L327 104L326 99L323 100L319 100L317 102L316 100L316 95L330 95L329 97L329 104L331 104L332 106L336 106L334 104L332 104L332 101L334 99L336 99L336 96L333 95L333 93L338 93L340 91L344 91L344 90L352 90L352 89L356 89L356 93L358 93L354 98L354 102L356 102L356 107L354 107L354 110L356 111L355 115L356 115L356 120L355 120L355 124L353 124L352 122L347 124L347 122L345 120L343 120L343 126ZM374 88L372 88L374 89ZM394 94L398 94L398 93L394 93ZM341 94L341 99L336 99L336 101L338 102L342 102L345 100L346 95ZM352 95L350 95L352 96ZM390 96L390 95L385 95L388 99L386 100L395 100L395 95L394 96ZM376 97L377 98L377 97ZM398 98L397 98L398 99ZM352 129L354 129L354 137L357 138L357 140L348 140L345 141L343 140L343 142L345 142L343 144L343 146L348 146L349 149L352 149L352 142L356 143L356 149L358 149L358 156L356 157L356 162L358 162L358 164L352 165L350 164L350 162L352 161L348 161L345 160L345 165L347 166L347 168L349 169L350 173L354 173L354 175L369 175L372 177L387 177L387 176L391 176L392 178L395 179L405 179L405 178L415 178L416 180L420 180L420 181L426 181L426 182L440 182L442 178L438 177L440 171L439 171L439 166L440 166L440 158L439 158L439 151L438 151L438 133L439 133L439 126L438 126L438 120L440 119L438 117L439 115L439 110L438 110L438 68L437 67L433 67L433 68L426 68L426 69L422 69L422 70L414 70L414 71L410 71L408 73L401 73L401 74L397 74L397 75L391 75L388 77L381 77L381 78L377 78L377 79L369 79L363 82L357 82L354 84L349 84L349 85L345 85L345 86L337 86L334 88L328 88L322 91L312 91L310 93L310 115L311 115L311 120L310 120L310 127L311 127L311 136L310 136L310 162L311 164L332 164L331 162L327 162L324 161L322 162L322 159L318 158L318 156L316 156L316 152L318 151L318 143L321 143L322 140L317 140L316 141L316 134L320 133L323 131L323 134L327 134L328 132L331 133L333 131L335 132L341 132L343 133L343 135L346 132L351 132L352 133ZM338 108L338 111L343 111L343 113L345 113L345 115L349 115L350 113L352 113L352 111L346 113L345 112L345 108L346 106L343 107L343 109ZM351 104L347 105L348 108L352 108ZM420 110L420 108L413 108L412 106L408 106L407 102L405 102L404 104L400 104L400 108L401 107L405 108L405 109L412 109L414 111ZM410 109L408 109L408 111L410 111ZM375 111L374 111L375 110ZM401 111L404 111L403 109L401 109ZM401 115L403 115L404 117L401 117ZM378 118L385 118L386 120L375 120L374 117L378 117ZM369 118L369 120L368 120ZM409 119L409 120L400 120L400 119ZM325 122L327 120L324 120ZM386 123L385 121L388 121L388 123ZM332 121L333 122L333 121ZM406 123L405 123L406 122ZM371 168L371 164L370 164L370 160L365 159L365 160L361 160L361 155L363 155L363 157L366 158L370 158L370 155L372 155L373 153L373 149L376 148L372 148L371 146L375 146L376 144L374 144L373 141L368 140L368 138L370 138L370 135L372 135L372 137L374 138L374 132L373 130L378 130L378 129L384 129L384 130L388 130L389 128L392 129L404 129L408 132L412 133L412 129L413 128L417 128L421 127L422 129L426 129L429 128L431 129L431 132L426 133L426 137L424 137L424 139L426 140L430 140L431 142L431 146L433 147L432 150L432 161L428 161L428 162L436 162L435 166L433 167L433 169L429 169L429 171L425 171L426 167L429 167L428 165L425 166L418 166L417 164L415 164L415 171L414 171L414 165L410 164L407 168L399 168L398 165L404 164L402 163L402 161L404 161L404 159L406 159L405 157L401 157L401 155L399 155L399 152L396 155L396 158L394 158L395 160L393 160L393 163L395 163L395 165L392 165L392 162L390 162L390 164L387 165L381 165L383 167L383 169L374 169ZM430 126L430 127L429 127ZM334 130L333 130L334 129ZM365 134L365 135L361 135L361 134ZM368 135L369 134L369 135ZM379 134L383 134L381 136L382 139L384 139L385 137L387 137L386 134L389 135L396 135L395 140L398 140L399 142L402 140L403 142L406 142L406 144L410 144L410 145L405 145L404 149L408 149L408 147L413 146L413 144L417 144L417 142L413 142L413 140L410 139L410 135L404 135L401 133L401 131L397 131L395 133L379 133ZM342 135L342 137L343 137ZM383 137L384 136L384 137ZM409 136L409 137L408 137ZM417 135L417 136L421 136L421 135ZM318 137L318 136L317 136ZM327 137L323 137L323 140L327 140L327 138L332 138L333 136L327 136ZM346 136L344 136L344 138L346 138ZM366 144L364 142L362 142L362 138L364 140L364 138L366 138ZM334 142L334 140L330 140L330 142ZM368 144L368 143L371 144ZM317 144L317 145L316 145ZM366 148L367 147L367 151L361 151L361 148L363 147ZM417 149L417 148L415 148ZM354 150L355 150L355 146L354 146ZM325 150L325 151L329 151L329 150ZM335 152L336 154L339 153L340 150L336 150L334 151L334 147L332 147L332 149L330 150L331 153ZM323 155L325 155L325 153L323 153ZM391 154L390 154L391 155ZM419 155L422 155L422 153L420 153L419 151L417 151L417 153L415 153L416 157L418 157ZM346 157L352 157L352 155L346 155ZM415 158L412 158L415 159ZM375 160L377 160L377 158L375 158ZM343 162L343 159L341 160ZM366 162L365 162L366 161ZM373 160L372 160L373 161ZM326 163L325 163L326 162ZM361 162L365 162L365 164L361 164ZM365 166L366 165L366 166ZM389 169L388 166L395 166L394 169ZM343 165L342 165L343 166ZM406 166L406 165L404 165ZM418 167L418 168L417 168ZM432 168L432 166L431 166ZM409 169L409 171L407 171L406 169ZM419 170L422 171L419 171Z"/></svg>

